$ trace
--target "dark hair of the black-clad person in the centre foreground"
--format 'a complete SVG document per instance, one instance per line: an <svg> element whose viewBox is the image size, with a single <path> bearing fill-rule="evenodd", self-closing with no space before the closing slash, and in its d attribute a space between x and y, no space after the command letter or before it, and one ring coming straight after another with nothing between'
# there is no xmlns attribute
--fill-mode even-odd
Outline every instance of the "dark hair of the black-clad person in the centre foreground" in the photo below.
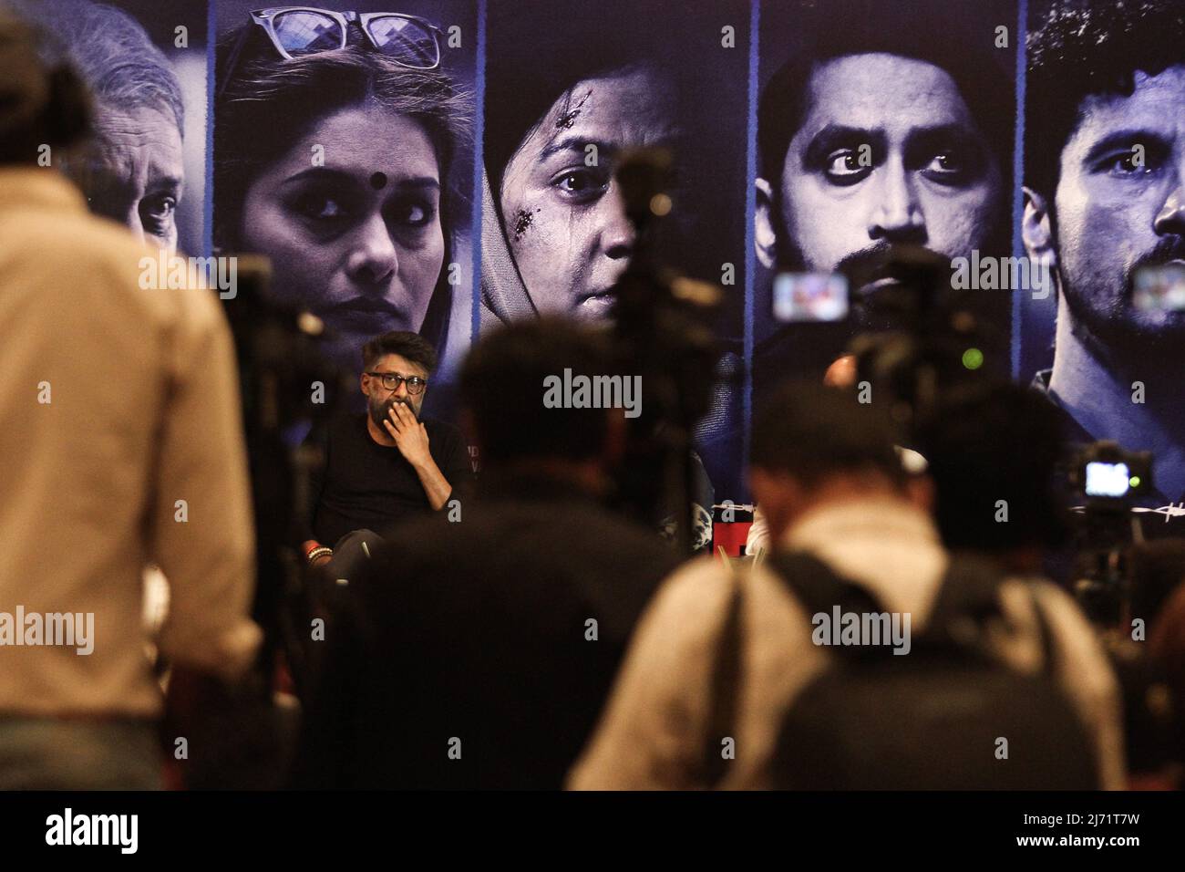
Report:
<svg viewBox="0 0 1185 872"><path fill-rule="evenodd" d="M461 370L461 405L469 412L487 466L531 458L587 460L604 448L601 408L544 408L549 376L613 374L608 337L563 318L500 326L469 351Z"/></svg>

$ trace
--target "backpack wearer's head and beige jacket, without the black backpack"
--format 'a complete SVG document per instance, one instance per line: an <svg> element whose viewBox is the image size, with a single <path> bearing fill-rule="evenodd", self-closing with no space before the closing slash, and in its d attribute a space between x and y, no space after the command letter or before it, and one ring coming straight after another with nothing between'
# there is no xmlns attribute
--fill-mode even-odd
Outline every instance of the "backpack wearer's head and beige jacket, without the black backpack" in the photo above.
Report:
<svg viewBox="0 0 1185 872"><path fill-rule="evenodd" d="M927 625L949 564L934 521L903 485L891 440L839 402L834 388L801 387L780 395L755 421L750 480L780 547L816 556L865 587L892 612ZM915 489L914 495L917 494ZM677 571L643 615L600 725L569 774L568 787L703 789L711 726L712 676L734 585L743 590L742 679L735 688L735 759L722 789L771 785L769 763L786 712L828 664L812 641L811 616L766 566L732 571L700 559ZM1076 604L1036 583L1057 663L1055 679L1085 728L1100 785L1125 783L1120 699L1115 676ZM1044 667L1030 585L999 588L1005 626L998 656L1035 673Z"/></svg>

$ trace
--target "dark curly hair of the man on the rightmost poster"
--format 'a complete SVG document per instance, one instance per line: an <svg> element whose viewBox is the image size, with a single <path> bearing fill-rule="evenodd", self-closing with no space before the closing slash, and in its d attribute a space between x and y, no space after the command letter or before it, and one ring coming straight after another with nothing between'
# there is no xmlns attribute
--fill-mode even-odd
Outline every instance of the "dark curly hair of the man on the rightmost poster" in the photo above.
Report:
<svg viewBox="0 0 1185 872"><path fill-rule="evenodd" d="M1055 6L1029 34L1025 184L1052 205L1065 148L1090 95L1130 96L1135 72L1185 64L1180 0L1096 0Z"/></svg>

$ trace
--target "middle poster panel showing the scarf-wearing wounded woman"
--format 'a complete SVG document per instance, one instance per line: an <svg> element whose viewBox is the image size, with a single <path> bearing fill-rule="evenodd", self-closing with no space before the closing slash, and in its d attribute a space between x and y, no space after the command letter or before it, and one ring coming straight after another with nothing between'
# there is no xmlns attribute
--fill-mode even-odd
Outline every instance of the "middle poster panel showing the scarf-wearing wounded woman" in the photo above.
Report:
<svg viewBox="0 0 1185 872"><path fill-rule="evenodd" d="M658 257L726 293L697 434L717 499L741 488L749 15L744 0L520 0L492 2L486 27L482 329L608 318L635 244L613 174L624 149L671 149Z"/></svg>

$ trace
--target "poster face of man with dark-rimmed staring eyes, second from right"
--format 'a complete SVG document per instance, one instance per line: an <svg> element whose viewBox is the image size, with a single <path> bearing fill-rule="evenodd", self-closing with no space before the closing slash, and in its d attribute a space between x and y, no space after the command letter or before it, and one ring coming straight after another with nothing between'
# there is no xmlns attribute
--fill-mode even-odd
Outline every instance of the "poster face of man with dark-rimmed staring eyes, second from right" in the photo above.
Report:
<svg viewBox="0 0 1185 872"><path fill-rule="evenodd" d="M850 55L815 64L807 88L781 190L758 180L767 266L832 272L891 243L947 257L989 244L1004 208L1001 168L947 71Z"/></svg>

